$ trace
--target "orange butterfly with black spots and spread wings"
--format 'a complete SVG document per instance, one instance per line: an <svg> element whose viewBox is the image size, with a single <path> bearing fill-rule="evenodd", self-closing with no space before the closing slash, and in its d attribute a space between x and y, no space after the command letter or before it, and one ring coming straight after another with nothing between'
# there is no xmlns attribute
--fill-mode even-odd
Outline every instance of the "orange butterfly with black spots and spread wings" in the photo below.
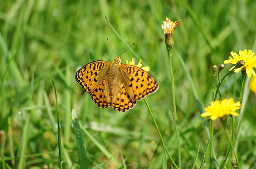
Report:
<svg viewBox="0 0 256 169"><path fill-rule="evenodd" d="M139 67L121 64L118 56L113 63L93 61L76 72L76 81L89 93L98 107L126 112L136 101L155 93L158 82Z"/></svg>

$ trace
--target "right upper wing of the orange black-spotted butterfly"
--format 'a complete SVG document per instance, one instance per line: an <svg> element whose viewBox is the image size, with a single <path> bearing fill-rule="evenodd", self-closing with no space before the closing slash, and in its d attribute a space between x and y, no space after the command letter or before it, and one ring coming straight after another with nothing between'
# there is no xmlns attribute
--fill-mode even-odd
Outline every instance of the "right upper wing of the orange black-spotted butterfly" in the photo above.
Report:
<svg viewBox="0 0 256 169"><path fill-rule="evenodd" d="M158 90L158 82L148 72L127 64L120 65L119 68L121 79L132 100L141 100Z"/></svg>

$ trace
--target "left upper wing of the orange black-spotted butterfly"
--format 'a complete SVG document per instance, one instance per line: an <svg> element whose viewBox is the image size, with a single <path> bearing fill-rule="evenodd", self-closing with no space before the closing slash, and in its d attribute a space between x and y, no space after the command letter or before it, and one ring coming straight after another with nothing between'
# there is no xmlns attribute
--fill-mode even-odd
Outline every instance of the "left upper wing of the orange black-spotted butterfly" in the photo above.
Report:
<svg viewBox="0 0 256 169"><path fill-rule="evenodd" d="M111 63L97 60L83 66L76 72L76 81L82 86L85 92L92 93L104 79Z"/></svg>

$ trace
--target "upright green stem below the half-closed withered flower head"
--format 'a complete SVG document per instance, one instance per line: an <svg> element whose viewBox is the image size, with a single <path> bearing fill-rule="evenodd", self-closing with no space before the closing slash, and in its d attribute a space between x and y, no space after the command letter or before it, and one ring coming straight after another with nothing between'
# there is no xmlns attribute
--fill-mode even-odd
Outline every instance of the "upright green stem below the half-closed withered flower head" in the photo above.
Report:
<svg viewBox="0 0 256 169"><path fill-rule="evenodd" d="M175 120L175 130L176 130L176 134L177 134L178 162L179 162L179 169L180 169L181 168L180 131L179 131L176 101L175 101L174 76L173 76L173 72L172 72L172 48L170 48L170 50L168 50L168 54L169 54L170 74L171 74L173 113L174 113L174 120Z"/></svg>

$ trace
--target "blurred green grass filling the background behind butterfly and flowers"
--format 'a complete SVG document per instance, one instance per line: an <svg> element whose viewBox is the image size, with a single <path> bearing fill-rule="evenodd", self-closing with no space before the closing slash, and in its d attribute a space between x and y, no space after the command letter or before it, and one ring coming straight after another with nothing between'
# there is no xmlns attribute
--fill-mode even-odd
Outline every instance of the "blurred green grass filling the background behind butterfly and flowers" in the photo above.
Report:
<svg viewBox="0 0 256 169"><path fill-rule="evenodd" d="M6 132L7 141L0 161L4 157L6 169L57 169L61 163L58 110L65 160L62 168L78 169L75 162L80 159L81 145L77 145L73 109L83 131L91 168L110 157L100 169L161 169L166 168L163 161L167 161L167 169L171 168L173 164L163 151L144 101L138 101L124 114L112 108L100 109L75 80L75 72L85 64L114 60L106 40L109 38L117 55L136 42L122 54L122 60L135 57L138 62L142 58L143 66L150 66L150 73L159 82L159 90L146 99L166 150L178 164L169 61L161 30L167 16L172 21L181 21L173 35L172 54L180 129L179 165L182 169L199 169L204 160L204 168L209 168L208 138L195 92L202 108L209 105L211 66L223 63L231 56L230 51L256 51L255 8L254 0L2 0L0 130ZM221 77L231 67L225 66ZM52 80L56 85L57 108ZM256 95L248 90L249 80L245 81L243 116L238 117L242 118L235 144L238 169L256 168ZM220 92L223 97L238 101L240 87L241 73L230 73ZM231 133L230 118L227 122ZM206 123L210 126L209 121ZM213 146L221 167L229 141L220 121L214 125ZM151 144L152 141L156 144ZM229 155L227 169L231 168L232 160L234 156Z"/></svg>

